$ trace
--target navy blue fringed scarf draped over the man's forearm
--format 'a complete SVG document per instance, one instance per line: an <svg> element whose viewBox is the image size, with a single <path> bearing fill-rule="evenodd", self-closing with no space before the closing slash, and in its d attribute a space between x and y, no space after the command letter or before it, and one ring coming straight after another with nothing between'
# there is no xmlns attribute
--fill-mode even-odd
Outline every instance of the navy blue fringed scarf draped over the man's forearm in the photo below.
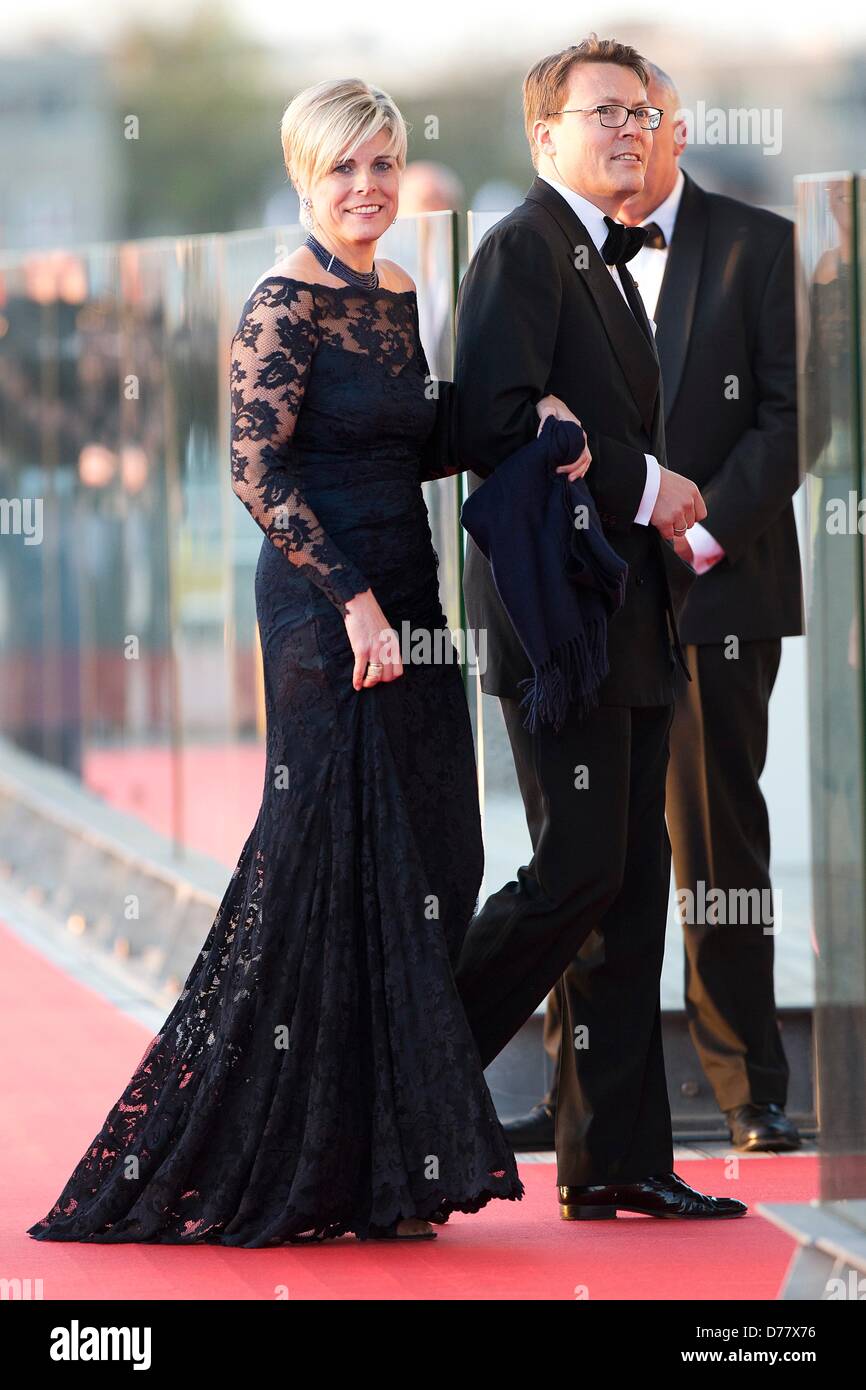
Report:
<svg viewBox="0 0 866 1390"><path fill-rule="evenodd" d="M628 566L607 543L589 488L555 471L582 448L580 425L549 416L460 512L532 663L534 674L520 681L530 731L542 721L559 733L570 705L580 717L598 705L607 619L626 598Z"/></svg>

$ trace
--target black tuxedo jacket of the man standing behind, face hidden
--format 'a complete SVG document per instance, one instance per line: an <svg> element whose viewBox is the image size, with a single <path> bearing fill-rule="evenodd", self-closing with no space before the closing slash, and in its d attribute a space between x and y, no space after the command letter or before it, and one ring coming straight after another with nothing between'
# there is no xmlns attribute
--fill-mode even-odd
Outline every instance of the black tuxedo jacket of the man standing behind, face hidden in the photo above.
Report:
<svg viewBox="0 0 866 1390"><path fill-rule="evenodd" d="M655 317L667 461L701 488L726 552L692 587L680 635L802 632L794 224L685 175Z"/></svg>

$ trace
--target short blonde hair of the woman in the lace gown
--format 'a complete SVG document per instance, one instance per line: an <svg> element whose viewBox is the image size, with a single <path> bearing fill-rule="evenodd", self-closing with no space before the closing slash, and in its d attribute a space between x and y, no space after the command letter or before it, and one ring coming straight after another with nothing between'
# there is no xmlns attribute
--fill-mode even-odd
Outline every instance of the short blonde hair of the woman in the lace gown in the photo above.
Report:
<svg viewBox="0 0 866 1390"><path fill-rule="evenodd" d="M384 154L406 167L406 121L386 92L360 78L338 78L304 88L282 113L279 138L286 174L299 193L306 192L341 158L379 131L391 133Z"/></svg>

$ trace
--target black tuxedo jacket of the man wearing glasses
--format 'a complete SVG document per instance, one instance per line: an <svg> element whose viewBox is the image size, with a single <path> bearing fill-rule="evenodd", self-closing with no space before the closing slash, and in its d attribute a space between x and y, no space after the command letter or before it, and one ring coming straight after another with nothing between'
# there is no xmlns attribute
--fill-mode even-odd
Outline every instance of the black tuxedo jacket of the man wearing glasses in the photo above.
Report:
<svg viewBox="0 0 866 1390"><path fill-rule="evenodd" d="M694 573L655 527L632 520L645 455L664 466L664 425L652 328L628 270L620 275L631 309L580 218L537 178L521 206L482 238L460 285L456 439L474 491L535 436L541 396L552 392L581 420L592 452L587 484L610 545L628 563L599 701L667 705L681 655L676 613ZM518 696L517 682L532 669L471 538L463 588L468 626L487 630L482 691Z"/></svg>

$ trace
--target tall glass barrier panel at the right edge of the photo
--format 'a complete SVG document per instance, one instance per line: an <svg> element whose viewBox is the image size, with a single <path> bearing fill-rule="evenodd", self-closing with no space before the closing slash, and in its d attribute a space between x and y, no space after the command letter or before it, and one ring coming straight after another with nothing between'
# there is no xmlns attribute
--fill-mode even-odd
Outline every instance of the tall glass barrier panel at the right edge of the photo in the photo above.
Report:
<svg viewBox="0 0 866 1390"><path fill-rule="evenodd" d="M859 185L859 189L858 189ZM851 174L796 181L822 1197L866 1197L863 304ZM862 207L860 207L862 221ZM860 263L862 264L862 263Z"/></svg>

